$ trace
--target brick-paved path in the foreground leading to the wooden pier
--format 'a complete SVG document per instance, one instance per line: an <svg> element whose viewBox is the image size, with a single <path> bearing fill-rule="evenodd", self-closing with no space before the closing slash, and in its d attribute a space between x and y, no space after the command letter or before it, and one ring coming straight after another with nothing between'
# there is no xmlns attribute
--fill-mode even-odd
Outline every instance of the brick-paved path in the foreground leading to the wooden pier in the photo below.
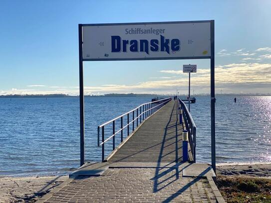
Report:
<svg viewBox="0 0 271 203"><path fill-rule="evenodd" d="M181 174L177 168L109 168L99 177L79 176L46 203L216 202L206 179Z"/></svg>

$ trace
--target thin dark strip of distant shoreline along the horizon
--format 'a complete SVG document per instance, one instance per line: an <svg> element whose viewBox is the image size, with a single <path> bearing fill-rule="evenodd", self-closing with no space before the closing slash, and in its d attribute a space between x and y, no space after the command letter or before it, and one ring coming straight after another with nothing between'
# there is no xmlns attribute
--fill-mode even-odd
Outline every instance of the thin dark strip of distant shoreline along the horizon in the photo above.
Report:
<svg viewBox="0 0 271 203"><path fill-rule="evenodd" d="M84 97L173 97L174 95L157 95L157 94L104 94L104 95L84 95ZM179 97L187 97L187 95L181 94ZM210 96L210 94L197 94L192 95L191 97L200 97L200 96ZM271 94L217 94L216 96L271 96ZM79 97L78 95L68 95L68 94L9 94L9 95L0 95L0 98L63 98L63 97Z"/></svg>

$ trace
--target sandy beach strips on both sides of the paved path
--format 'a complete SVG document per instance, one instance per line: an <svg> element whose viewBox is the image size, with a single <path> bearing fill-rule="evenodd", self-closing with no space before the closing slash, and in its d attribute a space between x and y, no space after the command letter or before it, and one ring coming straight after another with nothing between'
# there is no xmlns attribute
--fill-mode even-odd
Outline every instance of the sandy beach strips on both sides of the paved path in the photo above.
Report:
<svg viewBox="0 0 271 203"><path fill-rule="evenodd" d="M217 175L271 178L271 163L218 165ZM0 203L35 202L67 179L68 176L0 178Z"/></svg>

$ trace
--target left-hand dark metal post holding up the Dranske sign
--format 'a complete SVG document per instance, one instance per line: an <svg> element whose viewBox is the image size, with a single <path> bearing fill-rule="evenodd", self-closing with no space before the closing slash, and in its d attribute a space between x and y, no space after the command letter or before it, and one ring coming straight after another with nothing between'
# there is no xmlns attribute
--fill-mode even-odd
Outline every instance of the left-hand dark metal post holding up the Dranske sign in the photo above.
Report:
<svg viewBox="0 0 271 203"><path fill-rule="evenodd" d="M80 166L85 162L84 146L84 84L83 84L83 42L82 24L78 24L79 37L79 92L80 92Z"/></svg>

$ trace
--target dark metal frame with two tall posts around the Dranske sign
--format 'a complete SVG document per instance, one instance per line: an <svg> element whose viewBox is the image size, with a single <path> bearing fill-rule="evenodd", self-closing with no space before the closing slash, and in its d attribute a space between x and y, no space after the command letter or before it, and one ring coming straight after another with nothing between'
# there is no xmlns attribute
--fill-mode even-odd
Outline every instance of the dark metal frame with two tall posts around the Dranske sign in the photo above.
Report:
<svg viewBox="0 0 271 203"><path fill-rule="evenodd" d="M210 22L211 33L211 56L191 57L153 57L153 58L114 58L114 59L83 59L83 26L104 25L137 25L137 24L169 24L169 23L200 23ZM197 21L172 21L172 22L136 22L136 23L103 23L103 24L78 24L79 39L79 92L80 92L80 166L84 164L84 86L83 86L83 61L116 61L116 60L176 60L176 59L210 59L211 60L211 145L212 145L212 168L216 172L216 149L215 149L215 20Z"/></svg>

